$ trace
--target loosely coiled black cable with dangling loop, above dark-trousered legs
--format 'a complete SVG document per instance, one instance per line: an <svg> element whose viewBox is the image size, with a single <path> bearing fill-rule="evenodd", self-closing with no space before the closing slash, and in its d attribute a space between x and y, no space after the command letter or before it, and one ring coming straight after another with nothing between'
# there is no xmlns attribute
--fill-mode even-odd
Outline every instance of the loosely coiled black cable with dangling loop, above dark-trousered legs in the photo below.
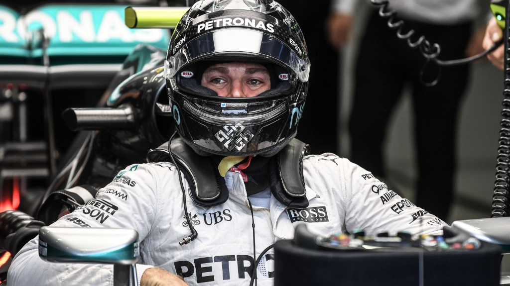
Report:
<svg viewBox="0 0 510 286"><path fill-rule="evenodd" d="M426 59L425 64L423 65L423 68L420 71L420 81L422 84L426 85L427 87L433 87L436 85L439 81L439 78L441 76L441 67L442 66L456 66L456 65L464 65L471 62L474 62L478 59L483 58L487 54L493 52L496 50L501 44L503 44L503 39L492 45L489 49L486 51L479 53L477 55L471 56L470 58L466 59L460 59L460 60L451 60L451 61L442 61L438 59L439 54L441 53L441 46L439 44L430 44L430 42L425 38L425 36L421 36L417 41L411 42L411 37L415 34L414 30L410 30L409 32L403 33L403 27L405 22L403 20L395 21L395 15L397 12L395 10L389 10L388 0L370 0L370 3L372 3L375 6L381 6L379 8L379 16L382 18L388 18L388 26L392 29L397 29L397 37L402 40L407 40L407 45L409 45L411 48L419 48L421 54ZM438 76L435 80L431 82L424 82L423 81L423 74L425 72L425 69L427 65L433 62L439 66Z"/></svg>

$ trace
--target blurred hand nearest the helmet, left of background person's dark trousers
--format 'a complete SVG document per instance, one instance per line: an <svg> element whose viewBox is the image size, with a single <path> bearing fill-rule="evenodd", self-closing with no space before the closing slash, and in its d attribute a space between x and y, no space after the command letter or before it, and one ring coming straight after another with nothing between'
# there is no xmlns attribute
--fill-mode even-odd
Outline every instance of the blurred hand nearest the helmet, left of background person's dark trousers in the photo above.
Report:
<svg viewBox="0 0 510 286"><path fill-rule="evenodd" d="M352 30L352 16L349 14L331 13L326 22L329 43L336 49L341 49L350 40Z"/></svg>

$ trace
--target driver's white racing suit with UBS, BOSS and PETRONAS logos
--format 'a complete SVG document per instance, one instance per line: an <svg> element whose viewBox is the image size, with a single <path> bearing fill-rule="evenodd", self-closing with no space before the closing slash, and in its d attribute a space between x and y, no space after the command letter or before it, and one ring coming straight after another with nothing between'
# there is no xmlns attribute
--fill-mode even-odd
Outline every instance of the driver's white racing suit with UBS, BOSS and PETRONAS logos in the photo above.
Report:
<svg viewBox="0 0 510 286"><path fill-rule="evenodd" d="M292 239L300 223L321 236L353 233L356 228L368 235L395 235L402 230L442 233L443 221L347 159L333 154L307 156L303 176L308 208L286 208L273 196L269 209L253 206L257 256L276 240ZM198 237L184 246L179 242L190 231L177 171L170 163L126 167L95 199L52 226L134 228L141 242L138 279L154 266L182 275L190 285L247 285L253 267L251 213L241 175L229 171L225 181L230 193L219 206L197 206L187 192L186 204ZM189 190L184 176L183 183ZM273 253L270 250L259 264L259 285L273 284ZM10 286L113 285L111 265L48 263L38 256L36 237L14 258Z"/></svg>

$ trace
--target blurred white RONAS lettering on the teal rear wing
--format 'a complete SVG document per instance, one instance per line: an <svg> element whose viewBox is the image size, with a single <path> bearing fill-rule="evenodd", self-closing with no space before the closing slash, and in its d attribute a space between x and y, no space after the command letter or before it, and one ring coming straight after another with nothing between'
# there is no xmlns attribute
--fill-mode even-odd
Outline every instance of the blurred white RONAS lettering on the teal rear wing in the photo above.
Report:
<svg viewBox="0 0 510 286"><path fill-rule="evenodd" d="M108 42L117 40L131 42L159 42L164 37L161 29L131 30L124 24L121 15L123 9L105 10L91 7L79 9L56 9L58 7L45 6L52 10L35 10L16 19L16 15L7 10L0 10L0 42L23 42L27 38L27 31L44 28L47 37L55 38L62 43L67 42ZM57 10L55 12L55 10Z"/></svg>

